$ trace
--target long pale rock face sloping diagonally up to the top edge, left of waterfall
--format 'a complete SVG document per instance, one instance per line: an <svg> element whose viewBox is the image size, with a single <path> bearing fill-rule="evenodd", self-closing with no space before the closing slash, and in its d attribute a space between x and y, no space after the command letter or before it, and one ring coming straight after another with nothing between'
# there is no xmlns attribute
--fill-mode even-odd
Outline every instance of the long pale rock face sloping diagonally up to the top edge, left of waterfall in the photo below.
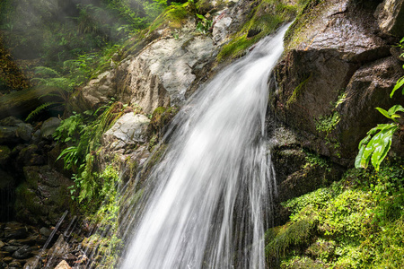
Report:
<svg viewBox="0 0 404 269"><path fill-rule="evenodd" d="M72 98L69 109L97 108L111 97L140 106L145 113L152 113L158 107L183 104L189 91L194 91L200 80L206 80L206 66L215 61L220 45L253 8L247 0L197 4L199 11L209 12L207 16L214 21L213 36L196 31L195 11L189 11L192 8L184 5L187 15L180 24L169 21L166 28L151 30L145 37L150 41L145 48L88 82ZM176 24L179 25L172 26Z"/></svg>

